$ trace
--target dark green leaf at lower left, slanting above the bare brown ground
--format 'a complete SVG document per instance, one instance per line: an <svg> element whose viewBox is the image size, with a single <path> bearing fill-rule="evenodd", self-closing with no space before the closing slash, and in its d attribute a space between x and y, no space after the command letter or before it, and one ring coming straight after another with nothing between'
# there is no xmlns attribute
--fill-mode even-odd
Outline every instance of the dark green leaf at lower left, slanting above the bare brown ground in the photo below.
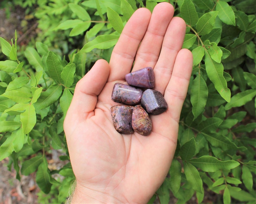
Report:
<svg viewBox="0 0 256 204"><path fill-rule="evenodd" d="M21 173L28 176L30 173L35 172L37 167L43 162L42 155L37 155L23 162L21 166Z"/></svg>

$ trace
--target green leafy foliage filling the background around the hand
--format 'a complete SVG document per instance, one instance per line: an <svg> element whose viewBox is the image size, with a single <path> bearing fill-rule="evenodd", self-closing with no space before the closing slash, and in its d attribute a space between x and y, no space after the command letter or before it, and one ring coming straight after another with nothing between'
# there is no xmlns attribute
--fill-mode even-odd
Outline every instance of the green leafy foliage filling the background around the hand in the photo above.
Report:
<svg viewBox="0 0 256 204"><path fill-rule="evenodd" d="M75 84L98 58L109 60L137 8L152 11L158 2L45 0L34 13L40 42L25 48L25 58L17 35L14 42L0 38L0 160L10 158L17 179L36 172L41 190L55 195L39 194L42 203L64 202L74 180L69 163L50 170L47 153L61 149L69 159L63 121ZM177 203L193 195L204 203L205 190L221 194L224 204L255 203L255 1L166 2L187 24L183 48L192 51L193 72L169 174L149 203L168 203L170 191Z"/></svg>

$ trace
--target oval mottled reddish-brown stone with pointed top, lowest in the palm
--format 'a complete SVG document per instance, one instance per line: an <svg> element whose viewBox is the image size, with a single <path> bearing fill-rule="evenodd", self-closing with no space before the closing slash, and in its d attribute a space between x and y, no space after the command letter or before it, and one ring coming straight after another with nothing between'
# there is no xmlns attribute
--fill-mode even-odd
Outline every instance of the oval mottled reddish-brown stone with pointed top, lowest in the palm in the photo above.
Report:
<svg viewBox="0 0 256 204"><path fill-rule="evenodd" d="M140 105L133 108L132 126L135 132L143 136L148 136L152 131L152 121Z"/></svg>

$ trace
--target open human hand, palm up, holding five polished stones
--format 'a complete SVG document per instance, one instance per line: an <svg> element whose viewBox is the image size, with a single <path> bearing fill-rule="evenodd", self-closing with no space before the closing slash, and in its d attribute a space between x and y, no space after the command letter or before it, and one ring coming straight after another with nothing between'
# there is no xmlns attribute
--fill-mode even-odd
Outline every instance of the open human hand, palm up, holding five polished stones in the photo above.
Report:
<svg viewBox="0 0 256 204"><path fill-rule="evenodd" d="M72 203L146 203L160 187L175 152L179 118L192 71L192 54L181 49L186 25L171 4L153 13L135 11L113 49L77 83L64 131L77 185ZM133 65L134 62L134 65ZM118 133L110 107L113 85L125 74L154 67L155 90L168 109L150 116L149 136Z"/></svg>

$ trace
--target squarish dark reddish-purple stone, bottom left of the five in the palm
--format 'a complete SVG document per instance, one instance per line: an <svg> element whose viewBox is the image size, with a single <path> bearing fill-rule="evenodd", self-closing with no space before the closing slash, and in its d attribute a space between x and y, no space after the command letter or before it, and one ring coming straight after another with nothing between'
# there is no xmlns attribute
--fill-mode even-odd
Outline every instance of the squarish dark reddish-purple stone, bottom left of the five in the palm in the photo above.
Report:
<svg viewBox="0 0 256 204"><path fill-rule="evenodd" d="M122 134L133 133L132 114L133 106L115 105L110 108L114 127L117 132Z"/></svg>

